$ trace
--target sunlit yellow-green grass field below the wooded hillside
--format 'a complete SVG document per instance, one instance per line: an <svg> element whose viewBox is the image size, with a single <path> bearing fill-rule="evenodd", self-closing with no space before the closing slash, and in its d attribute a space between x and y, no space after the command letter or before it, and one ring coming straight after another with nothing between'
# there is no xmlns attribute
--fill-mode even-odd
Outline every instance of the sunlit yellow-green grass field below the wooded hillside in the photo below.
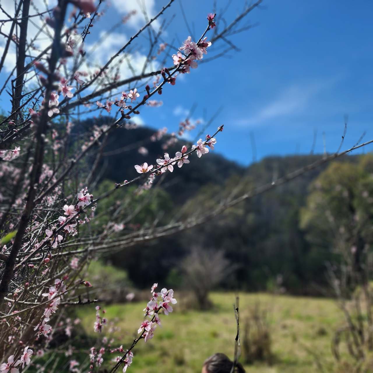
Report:
<svg viewBox="0 0 373 373"><path fill-rule="evenodd" d="M162 315L162 327L156 329L154 338L147 343L140 341L135 347L131 372L196 373L214 352L233 357L235 294L211 294L214 308L208 312L185 310L182 297L177 293L175 297L178 299L175 311L169 316ZM242 328L255 304L259 302L260 308L267 311L275 355L272 365L245 364L247 372L317 372L316 360L324 364L326 372L334 370L330 345L334 331L343 323L343 316L333 300L268 294L239 294L239 297ZM117 345L123 344L125 348L131 344L143 320L144 305L130 303L106 307L107 318L116 319L116 325L121 328L114 333ZM87 333L95 334L94 307L79 310L79 317Z"/></svg>

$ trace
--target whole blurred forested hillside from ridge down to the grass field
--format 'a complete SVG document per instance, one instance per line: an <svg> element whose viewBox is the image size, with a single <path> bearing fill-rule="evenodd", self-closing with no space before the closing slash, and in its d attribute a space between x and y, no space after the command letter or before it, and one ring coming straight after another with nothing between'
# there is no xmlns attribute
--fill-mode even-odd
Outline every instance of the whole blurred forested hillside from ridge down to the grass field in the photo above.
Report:
<svg viewBox="0 0 373 373"><path fill-rule="evenodd" d="M117 129L104 149L101 180L113 183L131 179L137 175L134 164L154 164L165 152L172 157L185 144L185 141L178 141L165 150L162 146L170 140L169 135L150 141L154 133L156 130L145 127ZM191 144L187 145L190 147ZM148 154L138 152L141 146L147 149ZM167 213L163 215L162 223L167 223L166 217L171 218L173 211L178 213L184 204L185 214L206 211L238 184L242 192L252 190L321 157L273 156L245 168L214 151L200 159L192 154L190 164L181 169L176 167L173 173L167 172L161 185L165 193L153 198L153 210L139 214L137 222L147 222L151 214L158 216L159 211L164 210ZM334 162L347 162L356 167L358 160L358 156L344 156ZM169 285L176 286L178 281L182 282L180 263L191 248L223 250L226 258L235 265L232 275L224 283L226 288L268 289L273 287L280 275L282 286L289 292L322 294L320 289L326 285L325 265L332 259L333 244L330 237L325 236L322 245L314 245L307 238L309 232L301 228L300 219L312 181L327 167L328 163L270 192L244 201L203 226L149 242L141 250L137 247L123 248L123 252L110 255L110 260L120 263L119 266L128 271L129 277L138 286L145 287L155 279L169 281ZM330 188L335 186L330 185ZM156 267L147 260L153 255L159 258Z"/></svg>

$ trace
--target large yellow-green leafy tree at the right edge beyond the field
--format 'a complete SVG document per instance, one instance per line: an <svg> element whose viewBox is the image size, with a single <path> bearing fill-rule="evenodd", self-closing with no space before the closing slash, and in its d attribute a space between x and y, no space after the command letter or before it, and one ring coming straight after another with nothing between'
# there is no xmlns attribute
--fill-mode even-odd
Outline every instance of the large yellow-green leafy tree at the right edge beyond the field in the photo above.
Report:
<svg viewBox="0 0 373 373"><path fill-rule="evenodd" d="M330 164L311 184L300 219L312 247L332 249L361 274L373 244L372 163L367 155L358 164Z"/></svg>

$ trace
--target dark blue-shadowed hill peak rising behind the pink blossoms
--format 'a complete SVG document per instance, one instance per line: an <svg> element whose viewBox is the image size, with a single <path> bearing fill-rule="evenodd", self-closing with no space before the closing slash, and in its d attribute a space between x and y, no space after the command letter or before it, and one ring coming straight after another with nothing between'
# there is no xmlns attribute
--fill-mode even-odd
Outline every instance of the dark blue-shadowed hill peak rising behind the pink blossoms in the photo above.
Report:
<svg viewBox="0 0 373 373"><path fill-rule="evenodd" d="M97 120L87 120L81 124L82 128L97 124ZM103 120L102 123L105 123ZM79 131L82 131L79 128ZM177 141L175 144L163 148L170 141L171 136L166 134L160 140L152 141L157 130L139 126L135 129L118 128L109 137L103 152L101 162L101 179L110 179L114 182L123 182L137 176L135 164L156 164L157 158L163 158L164 153L175 157L175 152L180 151L182 145L191 148L188 141ZM198 140L198 139L197 139ZM139 153L139 148L144 147L148 154ZM210 151L209 154L197 158L196 154L189 156L190 164L169 173L164 180L164 188L172 194L174 203L182 203L193 196L198 189L207 183L222 184L234 174L244 172L244 167L225 159L223 156Z"/></svg>

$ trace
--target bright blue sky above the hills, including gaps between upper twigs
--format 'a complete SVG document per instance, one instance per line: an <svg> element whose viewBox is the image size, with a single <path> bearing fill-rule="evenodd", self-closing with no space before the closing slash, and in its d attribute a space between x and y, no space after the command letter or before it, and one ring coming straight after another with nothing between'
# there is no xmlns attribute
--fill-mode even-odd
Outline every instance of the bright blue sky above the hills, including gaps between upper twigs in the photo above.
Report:
<svg viewBox="0 0 373 373"><path fill-rule="evenodd" d="M155 12L167 1L145 2L150 12ZM231 1L225 14L227 22L241 11L243 3ZM196 39L206 27L206 15L212 4L213 0L183 1ZM118 13L126 14L132 5L137 7L136 1L113 2L100 23L91 29L91 40L97 39L103 29L113 24ZM219 9L224 5L225 1L218 1L217 22ZM189 35L178 0L165 17L169 19L173 14L175 19L164 40L178 47ZM315 152L323 151L323 132L326 150L333 152L341 141L345 114L349 119L343 148L355 144L364 131L367 132L364 140L371 140L372 18L371 1L263 1L260 9L247 17L251 24L258 23L256 27L229 38L240 51L201 64L178 78L174 87L167 85L162 96L157 97L163 100L163 106L142 109L141 120L155 128L166 126L171 132L178 129L179 121L193 104L197 104L194 119L209 119L222 107L207 132L211 134L224 124L215 151L242 164L252 160L251 134L256 142L257 159L273 154L307 154L314 131L317 131ZM120 48L134 34L136 26L143 24L139 14L117 29L107 54ZM140 53L146 53L144 42L144 37L135 41ZM213 47L205 58L221 51ZM172 65L171 57L166 65ZM197 132L198 129L189 134L189 138L193 139ZM370 150L372 147L365 149Z"/></svg>

